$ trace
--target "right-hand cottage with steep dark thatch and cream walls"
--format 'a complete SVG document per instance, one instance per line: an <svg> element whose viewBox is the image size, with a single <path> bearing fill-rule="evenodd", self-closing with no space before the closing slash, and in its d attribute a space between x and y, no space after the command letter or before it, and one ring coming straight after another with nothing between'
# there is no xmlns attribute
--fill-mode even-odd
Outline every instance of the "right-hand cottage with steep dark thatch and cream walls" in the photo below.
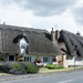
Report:
<svg viewBox="0 0 83 83"><path fill-rule="evenodd" d="M59 41L62 55L60 56L60 64L65 68L83 65L83 37L77 32L72 33L65 30L55 31L55 38ZM74 51L75 49L75 51ZM74 53L75 52L75 53Z"/></svg>

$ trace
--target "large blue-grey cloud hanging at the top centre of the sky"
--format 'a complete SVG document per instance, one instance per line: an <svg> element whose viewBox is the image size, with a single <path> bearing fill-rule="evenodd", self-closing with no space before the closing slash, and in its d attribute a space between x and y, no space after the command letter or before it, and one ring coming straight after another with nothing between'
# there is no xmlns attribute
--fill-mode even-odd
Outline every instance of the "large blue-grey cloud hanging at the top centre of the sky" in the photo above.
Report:
<svg viewBox="0 0 83 83"><path fill-rule="evenodd" d="M33 14L40 17L61 14L76 2L77 0L2 0L3 4L17 3L20 8L32 10Z"/></svg>

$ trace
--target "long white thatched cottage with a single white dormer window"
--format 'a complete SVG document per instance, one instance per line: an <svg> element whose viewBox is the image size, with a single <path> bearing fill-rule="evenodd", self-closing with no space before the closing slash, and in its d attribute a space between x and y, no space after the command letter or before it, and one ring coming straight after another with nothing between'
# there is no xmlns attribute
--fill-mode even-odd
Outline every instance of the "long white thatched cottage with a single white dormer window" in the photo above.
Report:
<svg viewBox="0 0 83 83"><path fill-rule="evenodd" d="M24 61L40 58L42 63L52 63L53 58L61 55L55 31L0 24L0 58L17 61L18 55Z"/></svg>

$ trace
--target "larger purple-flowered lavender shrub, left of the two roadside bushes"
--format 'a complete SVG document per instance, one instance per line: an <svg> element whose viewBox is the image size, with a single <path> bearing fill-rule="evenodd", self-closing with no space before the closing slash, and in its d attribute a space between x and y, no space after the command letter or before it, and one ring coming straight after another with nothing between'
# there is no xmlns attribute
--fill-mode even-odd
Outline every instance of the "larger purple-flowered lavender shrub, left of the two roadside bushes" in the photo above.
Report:
<svg viewBox="0 0 83 83"><path fill-rule="evenodd" d="M2 69L7 73L11 73L11 74L24 74L24 73L27 73L23 65L20 62L7 62Z"/></svg>

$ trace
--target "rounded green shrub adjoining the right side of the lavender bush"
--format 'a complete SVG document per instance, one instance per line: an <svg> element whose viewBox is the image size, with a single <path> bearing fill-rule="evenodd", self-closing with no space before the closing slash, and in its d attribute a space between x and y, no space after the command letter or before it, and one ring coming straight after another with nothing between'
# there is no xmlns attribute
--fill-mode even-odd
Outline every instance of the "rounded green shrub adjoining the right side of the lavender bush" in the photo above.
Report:
<svg viewBox="0 0 83 83"><path fill-rule="evenodd" d="M28 73L38 73L39 72L39 68L34 63L24 62L24 66L25 66Z"/></svg>

